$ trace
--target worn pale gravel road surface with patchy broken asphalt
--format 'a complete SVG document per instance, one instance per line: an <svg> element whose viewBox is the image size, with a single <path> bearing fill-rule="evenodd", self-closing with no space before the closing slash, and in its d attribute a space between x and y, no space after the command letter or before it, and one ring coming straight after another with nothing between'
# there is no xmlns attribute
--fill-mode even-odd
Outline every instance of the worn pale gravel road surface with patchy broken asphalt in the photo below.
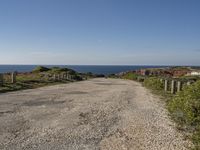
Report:
<svg viewBox="0 0 200 150"><path fill-rule="evenodd" d="M0 149L183 150L164 103L120 79L0 94Z"/></svg>

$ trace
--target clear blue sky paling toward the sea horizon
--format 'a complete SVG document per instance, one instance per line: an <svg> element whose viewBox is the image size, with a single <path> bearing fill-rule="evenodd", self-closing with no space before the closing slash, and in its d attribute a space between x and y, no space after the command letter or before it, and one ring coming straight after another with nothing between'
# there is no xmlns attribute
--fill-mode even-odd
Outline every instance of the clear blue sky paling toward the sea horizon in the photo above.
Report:
<svg viewBox="0 0 200 150"><path fill-rule="evenodd" d="M0 0L0 64L200 65L200 0Z"/></svg>

